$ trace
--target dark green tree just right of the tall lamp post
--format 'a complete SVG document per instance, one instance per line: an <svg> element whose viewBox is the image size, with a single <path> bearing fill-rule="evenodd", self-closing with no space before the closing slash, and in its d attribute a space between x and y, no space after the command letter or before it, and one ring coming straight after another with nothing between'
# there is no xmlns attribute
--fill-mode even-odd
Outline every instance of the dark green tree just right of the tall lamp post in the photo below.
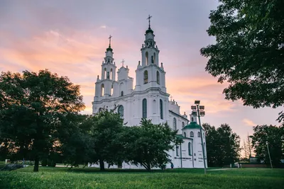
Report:
<svg viewBox="0 0 284 189"><path fill-rule="evenodd" d="M202 126L206 133L208 166L224 166L239 160L240 138L229 125L222 124L217 129L207 123Z"/></svg>

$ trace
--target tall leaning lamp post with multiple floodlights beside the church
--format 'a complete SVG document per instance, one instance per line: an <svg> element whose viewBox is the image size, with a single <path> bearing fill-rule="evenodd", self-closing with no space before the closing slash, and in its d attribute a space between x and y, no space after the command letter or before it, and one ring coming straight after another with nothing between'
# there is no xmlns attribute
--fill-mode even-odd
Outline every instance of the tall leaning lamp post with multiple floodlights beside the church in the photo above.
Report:
<svg viewBox="0 0 284 189"><path fill-rule="evenodd" d="M193 110L192 115L197 116L198 120L200 122L200 116L204 116L205 115L204 105L200 105L200 101L195 101L195 105L192 105L191 109ZM197 112L196 112L196 109L197 109ZM202 147L202 154L203 154L204 174L206 174L205 152L204 152L204 144L203 144L203 137L202 137L201 122L200 122L200 137L201 137L201 147Z"/></svg>

